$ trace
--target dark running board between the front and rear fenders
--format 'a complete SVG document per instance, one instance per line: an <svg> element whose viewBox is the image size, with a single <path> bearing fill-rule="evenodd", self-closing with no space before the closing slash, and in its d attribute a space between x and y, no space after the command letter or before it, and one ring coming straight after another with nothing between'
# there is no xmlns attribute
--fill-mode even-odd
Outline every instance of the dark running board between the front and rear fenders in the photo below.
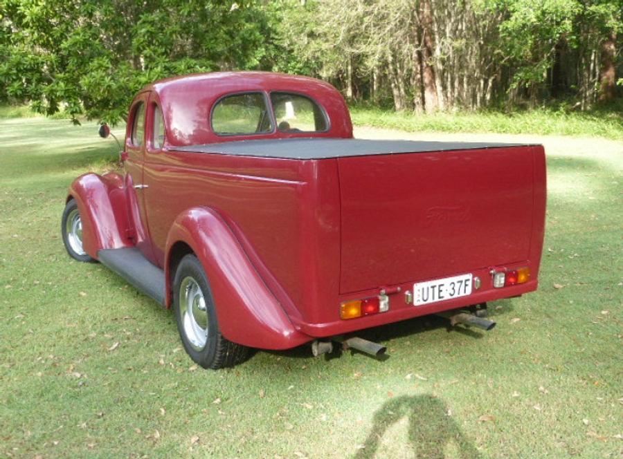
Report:
<svg viewBox="0 0 623 459"><path fill-rule="evenodd" d="M109 270L152 297L164 306L165 275L164 271L153 265L134 248L100 250L98 260Z"/></svg>

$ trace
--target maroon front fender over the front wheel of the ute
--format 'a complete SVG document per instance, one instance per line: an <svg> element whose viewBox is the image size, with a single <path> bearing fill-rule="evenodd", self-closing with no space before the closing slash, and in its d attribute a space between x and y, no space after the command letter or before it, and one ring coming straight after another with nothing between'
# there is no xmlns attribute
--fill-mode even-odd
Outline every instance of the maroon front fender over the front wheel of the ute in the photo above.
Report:
<svg viewBox="0 0 623 459"><path fill-rule="evenodd" d="M84 250L97 259L98 250L131 247L127 238L127 195L119 174L84 174L69 187L82 219Z"/></svg>

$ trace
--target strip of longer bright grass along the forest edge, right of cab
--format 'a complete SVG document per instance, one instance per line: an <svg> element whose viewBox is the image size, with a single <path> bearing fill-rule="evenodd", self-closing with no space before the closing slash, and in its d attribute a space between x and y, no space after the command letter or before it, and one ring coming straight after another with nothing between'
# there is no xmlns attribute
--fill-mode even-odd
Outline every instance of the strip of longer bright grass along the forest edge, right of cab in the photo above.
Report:
<svg viewBox="0 0 623 459"><path fill-rule="evenodd" d="M496 132L541 135L581 135L623 140L623 108L620 111L559 111L536 109L435 113L422 115L367 106L351 107L354 124L404 131Z"/></svg>

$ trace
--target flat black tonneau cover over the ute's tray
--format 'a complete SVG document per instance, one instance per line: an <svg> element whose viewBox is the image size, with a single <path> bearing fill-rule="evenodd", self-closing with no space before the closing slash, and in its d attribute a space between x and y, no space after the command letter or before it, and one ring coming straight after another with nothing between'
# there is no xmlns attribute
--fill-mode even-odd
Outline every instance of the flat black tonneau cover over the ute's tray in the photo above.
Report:
<svg viewBox="0 0 623 459"><path fill-rule="evenodd" d="M424 142L415 140L359 140L327 138L294 138L274 140L240 140L188 147L172 147L170 151L216 153L222 155L260 156L320 160L348 156L425 153L427 151L473 150L505 147L524 147L525 144L489 142Z"/></svg>

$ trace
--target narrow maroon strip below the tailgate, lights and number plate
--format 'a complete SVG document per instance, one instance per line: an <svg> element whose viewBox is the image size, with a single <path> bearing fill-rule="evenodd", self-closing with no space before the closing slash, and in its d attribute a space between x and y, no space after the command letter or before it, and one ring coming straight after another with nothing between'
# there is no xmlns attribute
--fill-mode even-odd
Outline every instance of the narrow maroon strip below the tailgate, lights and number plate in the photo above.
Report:
<svg viewBox="0 0 623 459"><path fill-rule="evenodd" d="M413 319L424 315L436 314L445 310L465 308L467 306L498 299L518 297L521 294L534 292L538 286L536 279L521 285L512 285L504 288L486 288L481 291L473 291L467 297L459 297L447 301L440 301L424 306L413 306L405 301L405 293L413 288L413 284L405 284L401 292L390 294L390 309L381 314L359 317L350 320L337 320L323 324L297 324L298 330L311 337L329 337L350 333L364 328L371 328L381 325L392 324L394 322ZM337 310L337 306L336 306Z"/></svg>

